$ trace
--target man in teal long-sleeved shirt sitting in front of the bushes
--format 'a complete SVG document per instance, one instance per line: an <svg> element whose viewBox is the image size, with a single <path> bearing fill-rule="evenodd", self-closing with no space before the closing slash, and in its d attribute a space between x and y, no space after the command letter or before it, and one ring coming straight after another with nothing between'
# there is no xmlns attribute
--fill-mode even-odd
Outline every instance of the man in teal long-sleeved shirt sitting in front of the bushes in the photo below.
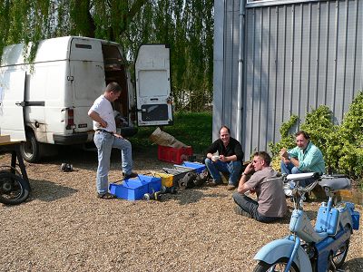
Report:
<svg viewBox="0 0 363 272"><path fill-rule="evenodd" d="M286 174L297 174L301 172L325 172L323 154L309 139L305 131L295 134L296 147L287 151L281 149L281 172Z"/></svg>

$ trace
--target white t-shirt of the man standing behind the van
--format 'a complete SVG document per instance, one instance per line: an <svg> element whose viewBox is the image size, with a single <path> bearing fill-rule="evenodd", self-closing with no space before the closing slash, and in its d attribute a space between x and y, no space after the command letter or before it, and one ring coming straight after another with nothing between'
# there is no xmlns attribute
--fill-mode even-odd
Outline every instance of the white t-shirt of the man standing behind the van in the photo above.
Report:
<svg viewBox="0 0 363 272"><path fill-rule="evenodd" d="M116 132L116 122L114 121L113 116L113 105L103 95L93 102L91 111L97 112L104 121L107 121L106 128L101 127L100 123L97 121L93 121L94 131L103 129L110 132Z"/></svg>

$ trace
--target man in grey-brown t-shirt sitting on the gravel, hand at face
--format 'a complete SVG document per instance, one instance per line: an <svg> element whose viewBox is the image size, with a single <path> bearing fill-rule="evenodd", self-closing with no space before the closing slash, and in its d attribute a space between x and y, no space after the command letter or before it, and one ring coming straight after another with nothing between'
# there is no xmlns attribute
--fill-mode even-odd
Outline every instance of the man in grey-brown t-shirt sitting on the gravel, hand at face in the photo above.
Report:
<svg viewBox="0 0 363 272"><path fill-rule="evenodd" d="M287 212L283 182L278 172L270 167L270 155L265 151L256 152L252 162L243 171L237 192L232 198L236 203L237 214L256 219L260 222L272 222L282 219ZM247 175L253 175L247 180ZM245 193L257 194L257 201Z"/></svg>

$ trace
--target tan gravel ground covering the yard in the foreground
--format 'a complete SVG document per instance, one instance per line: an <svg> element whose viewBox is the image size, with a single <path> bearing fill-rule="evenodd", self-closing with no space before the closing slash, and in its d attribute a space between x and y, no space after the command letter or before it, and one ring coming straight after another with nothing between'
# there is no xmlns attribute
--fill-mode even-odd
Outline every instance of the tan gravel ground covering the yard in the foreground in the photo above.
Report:
<svg viewBox="0 0 363 272"><path fill-rule="evenodd" d="M139 173L172 167L154 148L133 155ZM9 164L9 155L0 157ZM118 158L113 153L111 181L121 179ZM62 162L74 171L62 172ZM30 198L0 204L0 271L251 271L259 248L288 234L289 217L263 224L235 215L223 186L180 190L160 202L97 199L94 152L64 151L25 164ZM305 206L310 218L318 207ZM363 271L362 218L345 271Z"/></svg>

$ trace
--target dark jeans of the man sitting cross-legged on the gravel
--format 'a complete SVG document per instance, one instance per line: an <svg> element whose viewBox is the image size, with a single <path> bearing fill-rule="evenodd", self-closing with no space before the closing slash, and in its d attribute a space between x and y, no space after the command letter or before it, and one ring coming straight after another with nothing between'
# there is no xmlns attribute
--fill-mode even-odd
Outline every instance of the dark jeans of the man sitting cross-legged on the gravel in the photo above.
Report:
<svg viewBox="0 0 363 272"><path fill-rule="evenodd" d="M233 193L232 198L234 202L238 206L240 206L241 209L248 212L253 219L256 219L264 223L269 223L281 219L281 218L265 217L261 215L257 210L259 208L259 203L256 200L249 198L245 194L240 194L239 192L235 192Z"/></svg>

